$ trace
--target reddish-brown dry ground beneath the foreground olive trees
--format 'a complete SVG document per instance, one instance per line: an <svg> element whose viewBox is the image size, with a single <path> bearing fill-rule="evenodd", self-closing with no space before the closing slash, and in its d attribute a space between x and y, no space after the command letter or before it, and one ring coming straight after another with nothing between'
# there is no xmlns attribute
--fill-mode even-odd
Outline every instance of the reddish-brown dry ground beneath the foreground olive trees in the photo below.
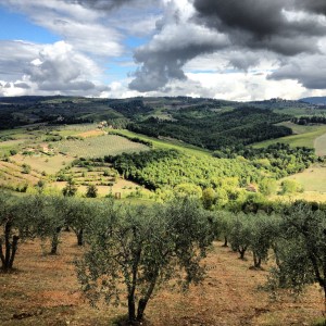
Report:
<svg viewBox="0 0 326 326"><path fill-rule="evenodd" d="M125 306L88 305L78 290L73 260L82 249L64 233L59 255L40 243L24 243L13 274L0 274L0 325L113 325ZM323 310L322 293L312 287L299 301L286 294L278 302L259 290L266 272L250 269L228 248L214 243L203 285L187 293L160 290L147 310L153 326L183 325L314 325Z"/></svg>

